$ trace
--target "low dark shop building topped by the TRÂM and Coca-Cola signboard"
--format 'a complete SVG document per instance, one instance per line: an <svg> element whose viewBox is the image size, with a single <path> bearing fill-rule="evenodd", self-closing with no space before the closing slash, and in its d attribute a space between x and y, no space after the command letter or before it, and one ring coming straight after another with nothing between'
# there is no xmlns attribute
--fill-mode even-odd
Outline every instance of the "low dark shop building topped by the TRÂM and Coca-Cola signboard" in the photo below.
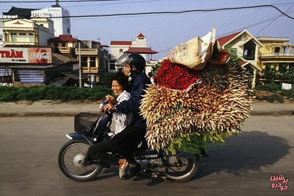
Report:
<svg viewBox="0 0 294 196"><path fill-rule="evenodd" d="M78 84L78 71L73 71L73 64L78 61L72 57L52 53L49 47L3 47L0 48L0 54L1 85L60 85L67 82L73 85L74 80ZM63 83L60 82L61 74ZM88 77L83 75L83 79L87 81Z"/></svg>

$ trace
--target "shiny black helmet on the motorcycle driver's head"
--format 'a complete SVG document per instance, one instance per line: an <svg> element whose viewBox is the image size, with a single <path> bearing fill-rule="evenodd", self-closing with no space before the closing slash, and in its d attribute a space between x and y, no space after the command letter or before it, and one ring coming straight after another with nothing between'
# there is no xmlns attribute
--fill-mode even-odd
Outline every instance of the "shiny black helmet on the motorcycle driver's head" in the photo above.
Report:
<svg viewBox="0 0 294 196"><path fill-rule="evenodd" d="M146 60L138 53L125 53L116 60L115 64L120 66L130 64L137 72L142 73L146 66Z"/></svg>

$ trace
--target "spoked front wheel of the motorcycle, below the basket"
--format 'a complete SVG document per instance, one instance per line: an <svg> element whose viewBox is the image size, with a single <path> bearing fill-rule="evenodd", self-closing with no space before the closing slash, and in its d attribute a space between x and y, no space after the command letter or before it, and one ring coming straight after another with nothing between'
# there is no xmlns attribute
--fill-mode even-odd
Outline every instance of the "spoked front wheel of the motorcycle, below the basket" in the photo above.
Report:
<svg viewBox="0 0 294 196"><path fill-rule="evenodd" d="M90 181L98 176L102 170L101 166L82 166L89 145L87 141L70 140L61 147L58 154L58 165L64 175L80 182Z"/></svg>

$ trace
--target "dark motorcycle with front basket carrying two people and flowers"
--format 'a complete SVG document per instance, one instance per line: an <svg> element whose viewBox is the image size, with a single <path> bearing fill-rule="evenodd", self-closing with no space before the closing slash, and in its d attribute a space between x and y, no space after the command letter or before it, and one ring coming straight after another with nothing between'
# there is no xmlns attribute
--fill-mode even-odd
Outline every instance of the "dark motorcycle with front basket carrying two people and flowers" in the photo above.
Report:
<svg viewBox="0 0 294 196"><path fill-rule="evenodd" d="M58 155L59 169L70 179L90 181L102 171L103 164L93 161L88 167L82 165L90 145L110 139L107 133L111 130L112 113L95 115L80 113L74 117L74 133L66 134L70 139L65 143ZM118 154L112 153L119 157ZM142 171L139 176L151 178L161 177L164 180L185 182L192 178L199 167L199 155L191 152L176 151L175 154L164 150L156 151L148 148L146 141L141 142L135 151L136 161ZM96 163L97 162L97 163Z"/></svg>

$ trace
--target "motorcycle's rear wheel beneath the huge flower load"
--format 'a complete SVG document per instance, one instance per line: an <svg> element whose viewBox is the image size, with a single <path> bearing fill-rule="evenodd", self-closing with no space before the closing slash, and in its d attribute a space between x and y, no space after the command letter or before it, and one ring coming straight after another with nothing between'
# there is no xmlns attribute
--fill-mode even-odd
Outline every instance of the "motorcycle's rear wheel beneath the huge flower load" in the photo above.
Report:
<svg viewBox="0 0 294 196"><path fill-rule="evenodd" d="M186 182L190 180L199 168L199 155L191 152L178 151L177 156L183 163L188 163L184 172L165 172L165 176L174 182Z"/></svg>

